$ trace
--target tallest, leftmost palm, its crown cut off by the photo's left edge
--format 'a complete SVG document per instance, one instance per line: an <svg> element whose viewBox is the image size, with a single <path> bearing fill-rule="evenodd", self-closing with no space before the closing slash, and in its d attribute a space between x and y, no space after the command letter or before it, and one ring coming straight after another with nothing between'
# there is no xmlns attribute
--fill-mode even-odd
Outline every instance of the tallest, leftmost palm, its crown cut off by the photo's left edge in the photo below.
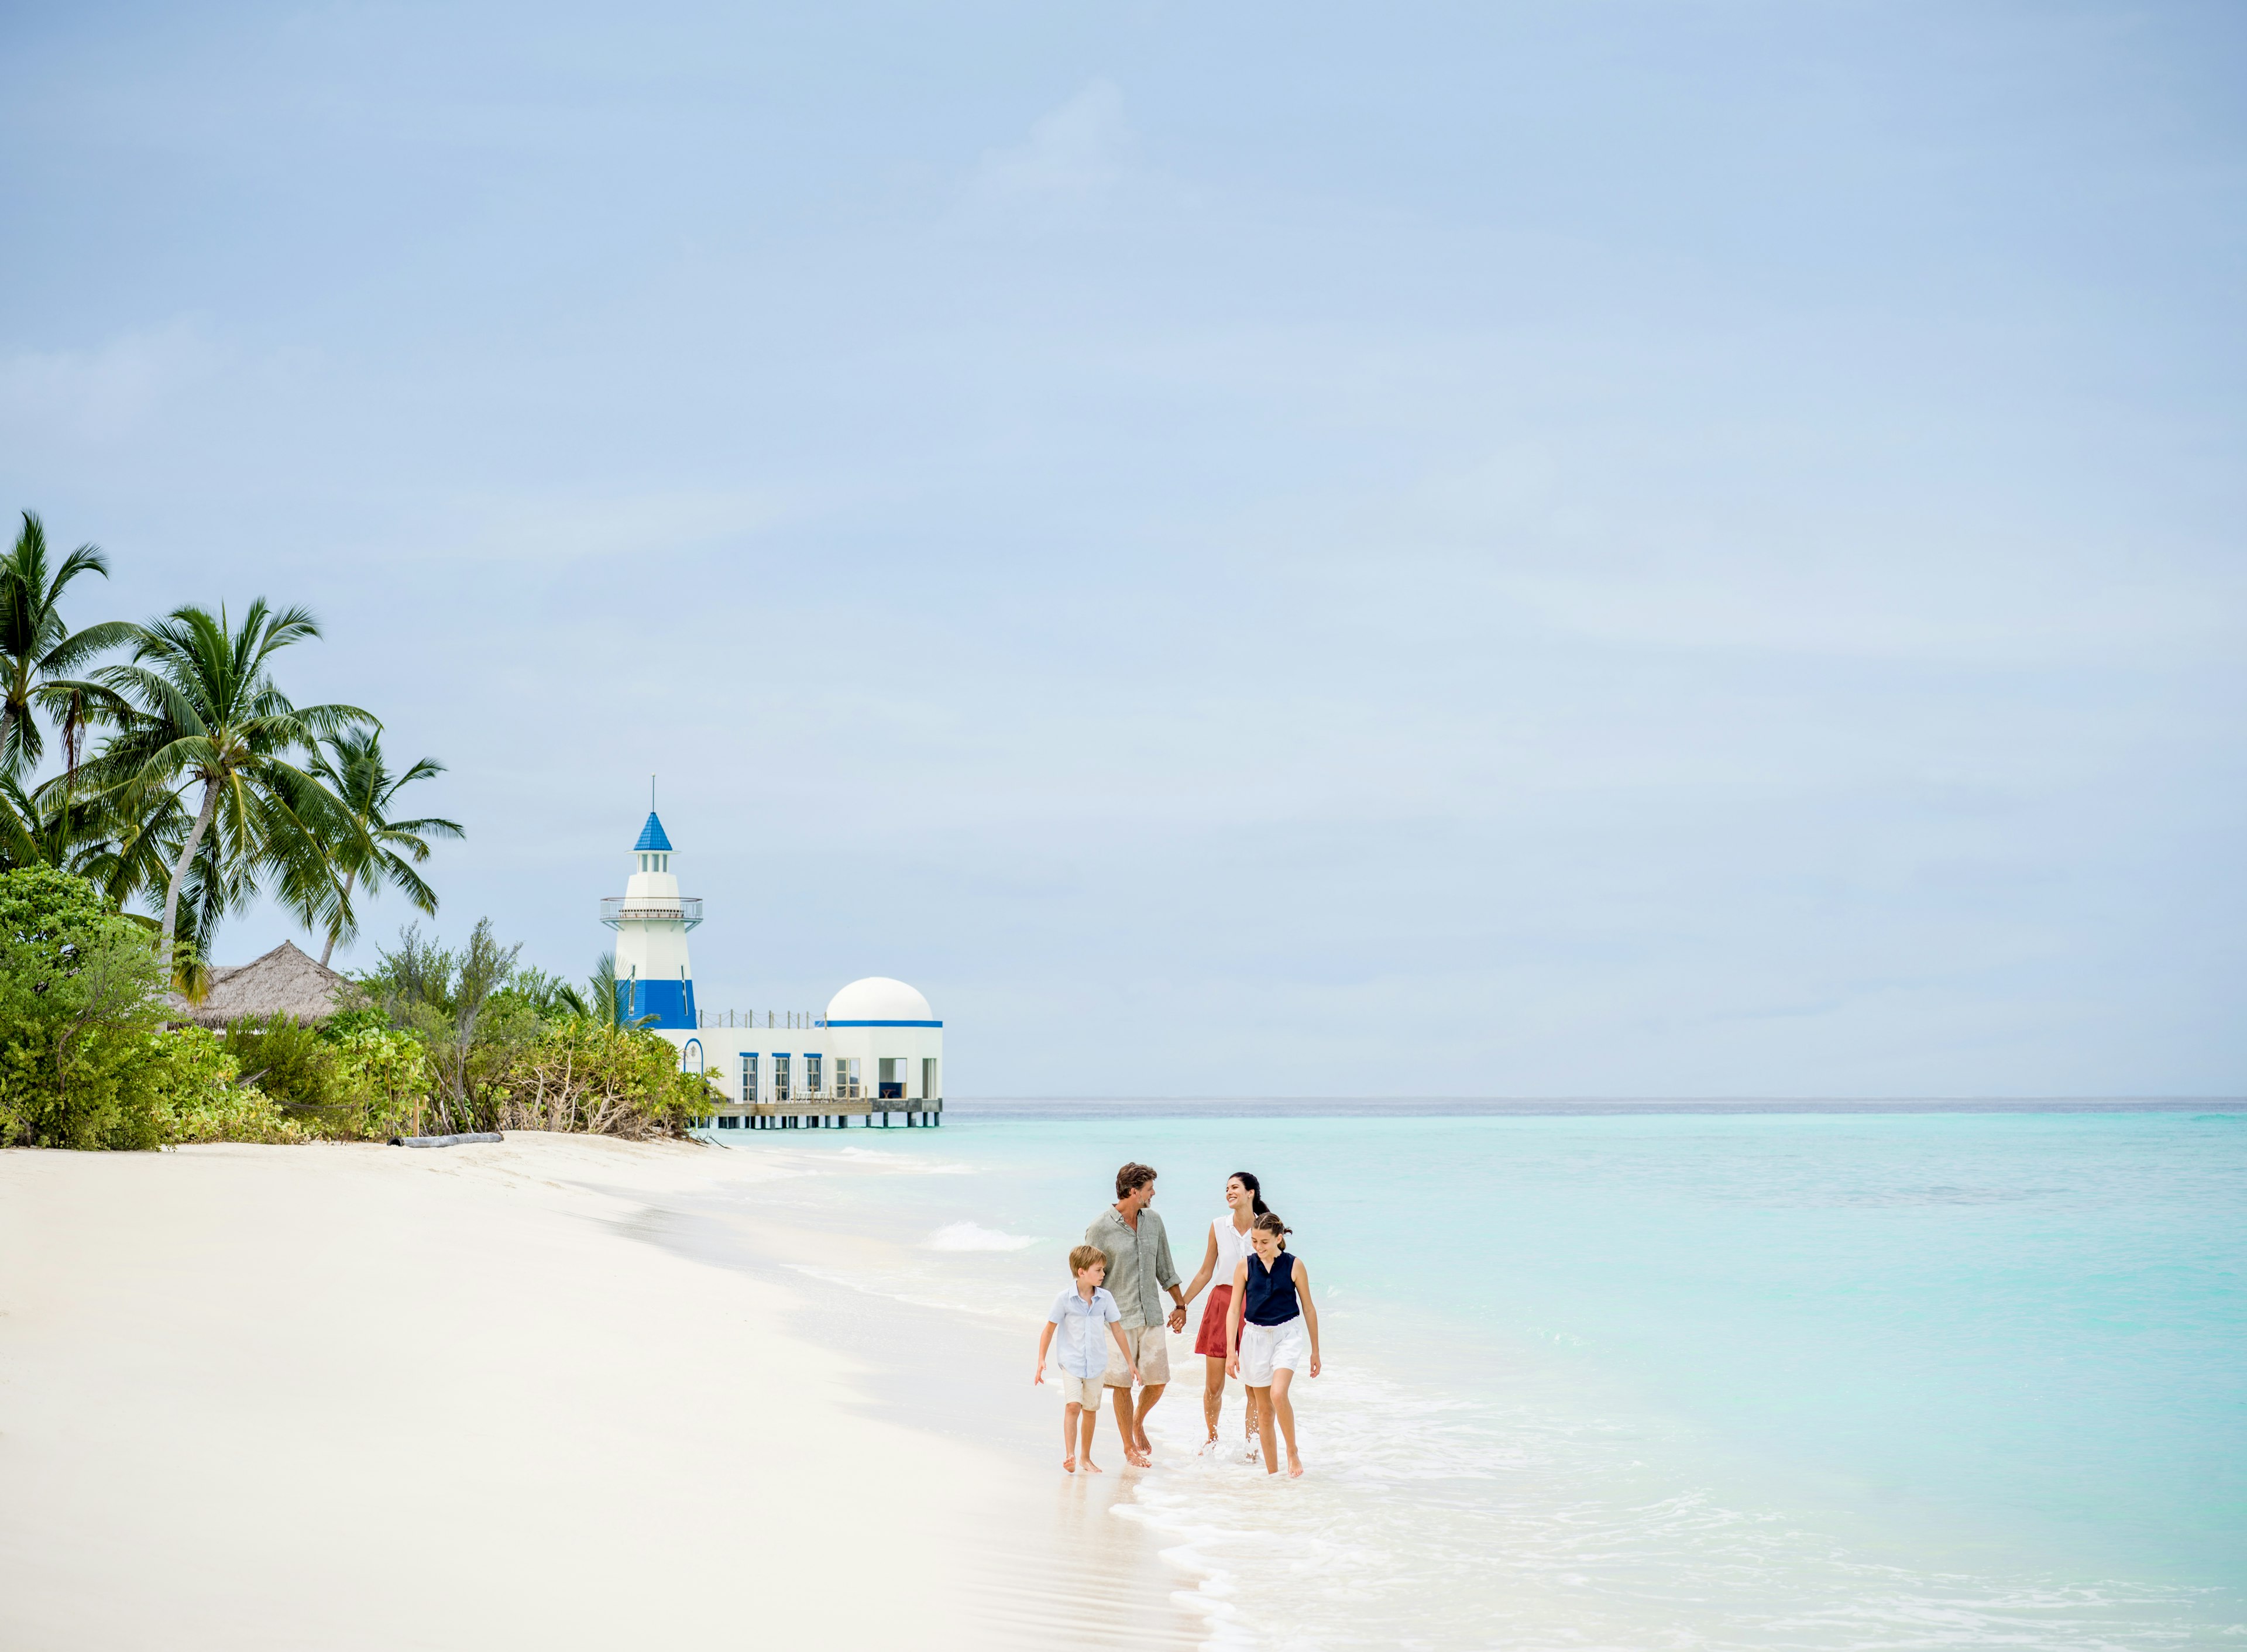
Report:
<svg viewBox="0 0 2247 1652"><path fill-rule="evenodd" d="M22 533L0 557L0 773L25 775L38 766L47 742L38 733L38 712L61 721L63 755L76 766L79 730L88 710L101 701L94 683L72 681L94 654L133 641L133 625L108 620L72 632L63 625L63 589L81 573L110 578L101 546L81 544L63 566L47 569L47 528L25 510Z"/></svg>

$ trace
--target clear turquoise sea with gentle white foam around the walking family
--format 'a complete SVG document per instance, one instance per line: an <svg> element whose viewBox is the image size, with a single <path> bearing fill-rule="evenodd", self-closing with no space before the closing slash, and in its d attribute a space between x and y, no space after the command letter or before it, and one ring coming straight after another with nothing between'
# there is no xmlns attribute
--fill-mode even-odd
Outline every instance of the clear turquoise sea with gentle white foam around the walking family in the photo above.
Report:
<svg viewBox="0 0 2247 1652"><path fill-rule="evenodd" d="M2247 1643L2236 1113L964 1106L786 1146L831 1171L798 1220L883 1241L847 1283L1025 1349L1117 1162L1186 1274L1263 1176L1326 1315L1312 1474L1189 1456L1182 1369L1119 1506L1211 1643Z"/></svg>

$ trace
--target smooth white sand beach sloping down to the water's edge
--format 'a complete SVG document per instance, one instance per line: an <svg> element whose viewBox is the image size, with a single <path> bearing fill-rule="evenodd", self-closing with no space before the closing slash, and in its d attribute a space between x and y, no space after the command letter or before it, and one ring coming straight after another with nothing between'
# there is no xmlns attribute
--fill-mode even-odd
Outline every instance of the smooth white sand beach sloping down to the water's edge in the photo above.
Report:
<svg viewBox="0 0 2247 1652"><path fill-rule="evenodd" d="M872 1414L786 1288L634 1232L766 1173L0 1153L0 1645L1146 1645L1128 1522Z"/></svg>

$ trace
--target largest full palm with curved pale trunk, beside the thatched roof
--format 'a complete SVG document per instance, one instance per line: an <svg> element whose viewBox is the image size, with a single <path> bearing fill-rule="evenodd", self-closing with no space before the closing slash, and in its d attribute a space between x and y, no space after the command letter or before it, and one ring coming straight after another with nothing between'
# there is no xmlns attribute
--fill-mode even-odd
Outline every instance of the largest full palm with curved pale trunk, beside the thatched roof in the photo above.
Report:
<svg viewBox="0 0 2247 1652"><path fill-rule="evenodd" d="M184 836L162 834L169 877L157 946L171 957L180 886L213 825L213 852L198 879L202 942L218 910L243 899L261 870L279 877L283 901L308 924L348 924L348 897L328 868L364 854L366 834L344 800L290 757L375 717L357 706L294 706L272 679L272 656L319 636L319 625L306 609L274 614L258 598L231 629L225 609L180 607L130 632L130 663L99 679L110 692L103 717L117 735L90 766L128 818L162 816L166 796L184 805L184 793L202 787Z"/></svg>

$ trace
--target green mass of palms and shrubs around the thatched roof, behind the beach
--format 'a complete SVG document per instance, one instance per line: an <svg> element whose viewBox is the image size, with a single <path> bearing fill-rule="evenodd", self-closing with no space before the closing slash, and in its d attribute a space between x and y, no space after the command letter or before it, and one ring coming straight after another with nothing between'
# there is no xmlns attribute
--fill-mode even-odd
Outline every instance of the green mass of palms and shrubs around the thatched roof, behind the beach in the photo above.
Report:
<svg viewBox="0 0 2247 1652"><path fill-rule="evenodd" d="M227 917L263 897L328 964L357 904L434 917L420 868L463 829L402 805L440 762L393 766L371 710L288 695L288 650L321 634L306 609L72 629L85 575L108 578L99 546L56 560L25 512L0 557L0 1146L643 1137L708 1110L672 1045L620 1020L611 960L575 987L488 919L458 951L409 924L319 1025L182 1025Z"/></svg>

